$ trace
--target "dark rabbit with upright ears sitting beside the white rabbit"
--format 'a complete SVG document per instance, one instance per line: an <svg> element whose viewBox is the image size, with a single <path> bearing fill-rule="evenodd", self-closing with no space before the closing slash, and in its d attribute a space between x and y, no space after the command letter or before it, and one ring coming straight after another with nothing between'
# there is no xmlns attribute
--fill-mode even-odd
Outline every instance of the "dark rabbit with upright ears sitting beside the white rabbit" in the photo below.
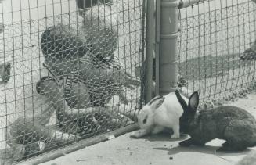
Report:
<svg viewBox="0 0 256 165"><path fill-rule="evenodd" d="M179 91L175 91L182 105L180 129L191 138L179 143L181 146L205 145L215 138L224 139L218 152L241 152L256 145L256 120L244 109L236 106L218 106L197 113L199 94L194 91L187 104Z"/></svg>

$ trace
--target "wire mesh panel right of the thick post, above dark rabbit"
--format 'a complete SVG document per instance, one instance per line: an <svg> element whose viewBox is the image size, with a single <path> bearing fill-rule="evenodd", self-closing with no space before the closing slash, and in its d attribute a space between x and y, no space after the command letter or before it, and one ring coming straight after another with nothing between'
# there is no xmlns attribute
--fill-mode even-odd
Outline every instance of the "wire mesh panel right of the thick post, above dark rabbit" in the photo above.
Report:
<svg viewBox="0 0 256 165"><path fill-rule="evenodd" d="M250 0L207 0L179 10L178 72L188 92L212 102L254 83L255 9Z"/></svg>

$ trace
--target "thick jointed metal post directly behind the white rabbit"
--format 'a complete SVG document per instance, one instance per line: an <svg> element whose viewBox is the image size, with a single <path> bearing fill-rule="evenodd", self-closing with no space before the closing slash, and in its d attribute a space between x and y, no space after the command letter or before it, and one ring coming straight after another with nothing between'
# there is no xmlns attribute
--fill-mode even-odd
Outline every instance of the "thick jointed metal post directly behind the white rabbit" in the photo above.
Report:
<svg viewBox="0 0 256 165"><path fill-rule="evenodd" d="M160 95L166 95L177 87L177 38L178 5L177 0L161 0L160 9Z"/></svg>

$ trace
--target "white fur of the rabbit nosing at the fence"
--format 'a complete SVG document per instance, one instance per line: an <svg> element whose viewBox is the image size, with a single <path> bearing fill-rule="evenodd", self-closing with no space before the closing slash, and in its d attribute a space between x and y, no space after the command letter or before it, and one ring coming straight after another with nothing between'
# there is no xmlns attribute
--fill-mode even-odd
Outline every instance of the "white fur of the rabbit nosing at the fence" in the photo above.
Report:
<svg viewBox="0 0 256 165"><path fill-rule="evenodd" d="M188 99L182 95L182 98L188 102ZM147 134L157 134L165 128L171 128L174 134L171 138L179 138L179 117L182 116L183 109L175 92L164 95L164 102L156 108L157 101L151 105L146 104L138 114L138 123L140 130L133 132L132 138L140 138ZM146 123L143 120L146 118Z"/></svg>

